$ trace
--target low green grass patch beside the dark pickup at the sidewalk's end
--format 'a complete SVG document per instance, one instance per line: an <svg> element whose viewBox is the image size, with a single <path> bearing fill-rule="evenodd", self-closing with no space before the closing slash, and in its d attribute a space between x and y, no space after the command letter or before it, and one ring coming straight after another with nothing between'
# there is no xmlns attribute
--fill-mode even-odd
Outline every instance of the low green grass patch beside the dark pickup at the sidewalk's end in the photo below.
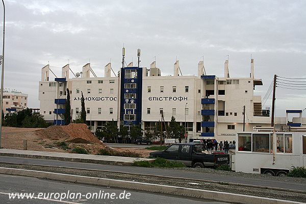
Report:
<svg viewBox="0 0 306 204"><path fill-rule="evenodd" d="M186 167L185 164L181 162L170 162L163 158L156 158L153 162L149 163L148 161L134 161L134 166L141 166L141 167L163 167L163 168L180 168Z"/></svg>

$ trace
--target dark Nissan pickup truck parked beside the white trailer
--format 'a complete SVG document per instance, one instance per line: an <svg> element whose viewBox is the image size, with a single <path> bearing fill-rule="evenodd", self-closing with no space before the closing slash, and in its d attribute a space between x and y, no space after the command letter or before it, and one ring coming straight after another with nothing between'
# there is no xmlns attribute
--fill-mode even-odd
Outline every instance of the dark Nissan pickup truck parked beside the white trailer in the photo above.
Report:
<svg viewBox="0 0 306 204"><path fill-rule="evenodd" d="M230 163L230 155L222 151L207 151L204 144L181 143L172 144L164 151L150 152L152 157L182 162L186 166L203 168Z"/></svg>

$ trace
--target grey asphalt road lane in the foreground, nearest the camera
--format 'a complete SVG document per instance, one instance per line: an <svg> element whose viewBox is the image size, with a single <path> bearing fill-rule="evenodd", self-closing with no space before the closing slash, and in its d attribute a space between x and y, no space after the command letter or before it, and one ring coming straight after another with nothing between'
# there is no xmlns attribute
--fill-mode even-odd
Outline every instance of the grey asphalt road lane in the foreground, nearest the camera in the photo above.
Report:
<svg viewBox="0 0 306 204"><path fill-rule="evenodd" d="M86 186L80 184L61 183L54 181L40 180L33 177L11 176L0 174L0 200L1 203L124 203L124 204L146 204L146 203L169 203L169 204L226 204L227 202L216 202L203 199L188 199L180 196L169 196L147 192L125 191L107 187ZM68 193L69 191L69 193ZM100 193L101 191L101 193ZM33 199L9 198L9 193L34 193ZM40 196L39 196L39 193ZM53 195L51 193L54 193ZM74 193L74 195L73 195ZM78 194L77 196L77 193ZM97 194L93 194L97 193ZM103 194L104 193L104 194ZM115 193L114 199L108 198L108 194ZM130 195L128 194L130 193ZM49 195L49 196L48 196ZM69 195L69 196L68 196ZM104 195L106 197L104 197ZM42 198L42 199L38 199ZM60 197L63 197L60 200ZM67 199L68 196L68 199ZM97 196L97 197L96 197ZM71 199L69 199L69 197ZM94 198L92 198L94 197ZM120 197L122 199L120 199ZM107 199L108 198L108 199ZM129 198L129 199L127 199Z"/></svg>

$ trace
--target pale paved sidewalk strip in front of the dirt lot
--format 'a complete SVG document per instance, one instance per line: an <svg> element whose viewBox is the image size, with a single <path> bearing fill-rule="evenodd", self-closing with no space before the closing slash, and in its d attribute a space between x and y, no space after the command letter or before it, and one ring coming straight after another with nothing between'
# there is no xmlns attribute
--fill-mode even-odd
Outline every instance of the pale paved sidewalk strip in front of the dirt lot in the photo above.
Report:
<svg viewBox="0 0 306 204"><path fill-rule="evenodd" d="M18 149L0 149L0 156L60 160L60 161L66 161L66 162L112 164L112 165L121 165L121 166L132 166L134 161L140 161L140 160L153 161L154 160L154 159L146 159L146 158L81 155L81 154L71 154L71 153L18 150Z"/></svg>

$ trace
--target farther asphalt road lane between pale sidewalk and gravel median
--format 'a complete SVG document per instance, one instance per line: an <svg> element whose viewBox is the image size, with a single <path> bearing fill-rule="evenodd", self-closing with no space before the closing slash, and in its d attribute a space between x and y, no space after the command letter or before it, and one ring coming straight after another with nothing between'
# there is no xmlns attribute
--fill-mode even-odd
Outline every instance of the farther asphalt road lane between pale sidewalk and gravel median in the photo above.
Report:
<svg viewBox="0 0 306 204"><path fill-rule="evenodd" d="M103 165L103 164L89 164L89 163L77 163L77 162L63 162L56 160L43 160L43 159L28 159L28 158L17 158L17 157L2 157L0 156L0 162L12 162L19 164L38 164L38 165L48 165L48 166L61 166L61 167L72 167L72 168L86 168L86 169L98 169L98 170L110 170L110 171L122 171L122 172L132 172L132 173L145 173L151 175L164 175L164 176L175 176L175 177L185 177L188 179L201 179L209 181L221 181L230 182L237 184L247 184L256 185L264 187L275 187L275 188L286 188L292 190L302 190L306 189L306 184L296 183L296 182L282 182L273 179L254 179L246 178L241 176L228 176L220 174L210 174L201 172L186 172L173 169L162 169L162 168L144 168L135 166L117 166L117 165Z"/></svg>

